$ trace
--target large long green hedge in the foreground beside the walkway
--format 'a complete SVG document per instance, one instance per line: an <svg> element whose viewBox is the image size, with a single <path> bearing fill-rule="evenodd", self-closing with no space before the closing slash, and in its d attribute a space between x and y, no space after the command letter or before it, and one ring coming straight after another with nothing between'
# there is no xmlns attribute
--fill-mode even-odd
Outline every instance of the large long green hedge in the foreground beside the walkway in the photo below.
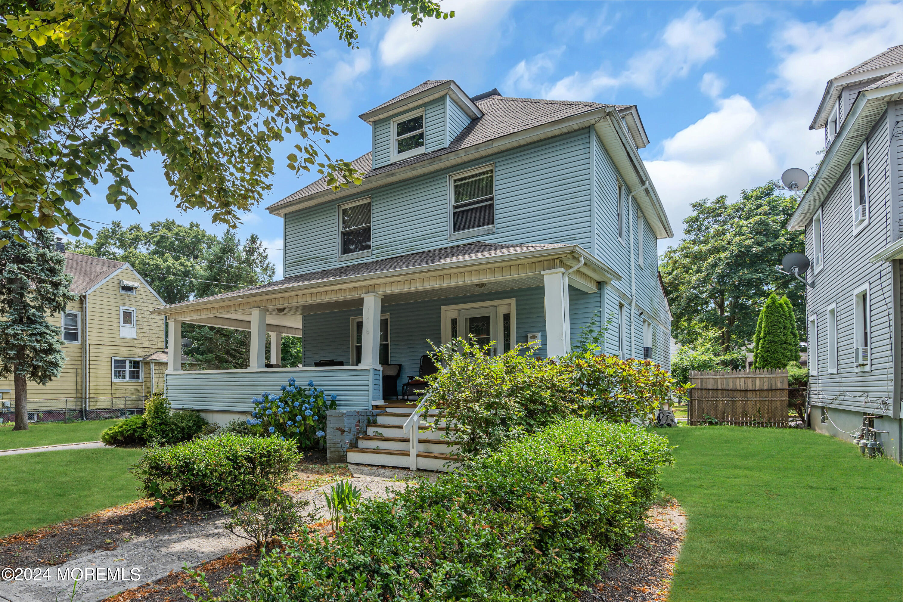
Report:
<svg viewBox="0 0 903 602"><path fill-rule="evenodd" d="M642 528L671 461L666 439L636 426L559 421L362 502L334 538L300 533L217 599L570 602Z"/></svg>

